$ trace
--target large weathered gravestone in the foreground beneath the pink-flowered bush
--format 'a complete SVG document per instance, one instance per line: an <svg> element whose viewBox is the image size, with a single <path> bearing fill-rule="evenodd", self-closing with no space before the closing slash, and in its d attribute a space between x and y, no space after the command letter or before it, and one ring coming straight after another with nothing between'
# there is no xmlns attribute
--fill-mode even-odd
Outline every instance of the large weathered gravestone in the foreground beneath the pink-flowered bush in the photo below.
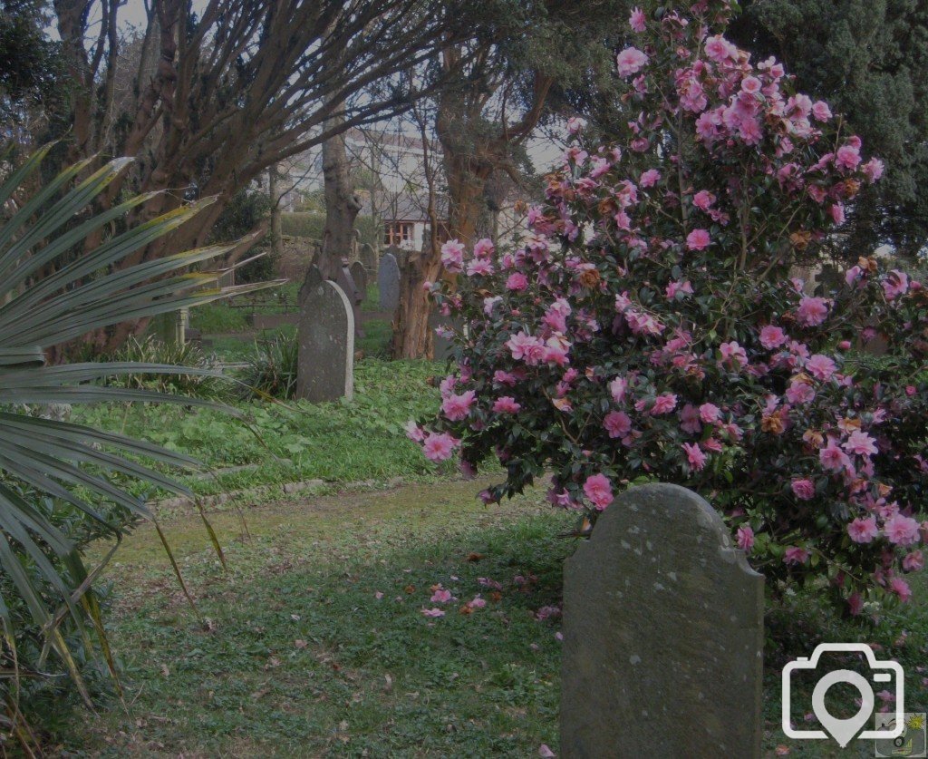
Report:
<svg viewBox="0 0 928 759"><path fill-rule="evenodd" d="M619 495L564 566L561 756L759 757L763 588L696 493Z"/></svg>

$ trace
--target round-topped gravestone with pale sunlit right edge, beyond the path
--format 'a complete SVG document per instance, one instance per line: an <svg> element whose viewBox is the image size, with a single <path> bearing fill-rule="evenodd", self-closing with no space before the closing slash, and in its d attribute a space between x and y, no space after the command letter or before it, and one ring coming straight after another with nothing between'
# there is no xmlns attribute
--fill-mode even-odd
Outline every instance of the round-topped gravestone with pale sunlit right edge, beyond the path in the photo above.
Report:
<svg viewBox="0 0 928 759"><path fill-rule="evenodd" d="M310 267L300 288L297 398L319 403L354 395L354 313L335 282Z"/></svg>

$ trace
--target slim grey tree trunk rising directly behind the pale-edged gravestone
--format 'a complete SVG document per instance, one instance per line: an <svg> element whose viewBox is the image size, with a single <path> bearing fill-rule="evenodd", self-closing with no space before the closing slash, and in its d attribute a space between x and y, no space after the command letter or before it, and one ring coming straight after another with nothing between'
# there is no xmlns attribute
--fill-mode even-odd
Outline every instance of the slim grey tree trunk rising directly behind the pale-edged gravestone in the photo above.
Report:
<svg viewBox="0 0 928 759"><path fill-rule="evenodd" d="M326 128L330 129L343 121L344 104L335 108ZM351 255L354 219L361 210L361 199L354 194L354 182L348 171L343 133L329 137L322 143L322 177L326 197L326 229L322 235L322 254L318 266L323 277L335 280L342 268L342 257Z"/></svg>

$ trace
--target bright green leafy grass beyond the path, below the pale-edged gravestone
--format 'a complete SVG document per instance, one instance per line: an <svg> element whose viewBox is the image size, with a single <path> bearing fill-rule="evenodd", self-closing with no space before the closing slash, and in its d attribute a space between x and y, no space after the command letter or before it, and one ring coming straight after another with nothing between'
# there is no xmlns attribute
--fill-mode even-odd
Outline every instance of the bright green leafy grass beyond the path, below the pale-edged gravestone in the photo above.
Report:
<svg viewBox="0 0 928 759"><path fill-rule="evenodd" d="M428 361L360 360L354 400L240 403L247 421L211 409L149 405L80 408L73 418L190 453L213 470L251 466L214 478L179 477L200 494L316 478L429 480L453 466L430 464L403 425L437 408L438 391L428 380L440 371Z"/></svg>

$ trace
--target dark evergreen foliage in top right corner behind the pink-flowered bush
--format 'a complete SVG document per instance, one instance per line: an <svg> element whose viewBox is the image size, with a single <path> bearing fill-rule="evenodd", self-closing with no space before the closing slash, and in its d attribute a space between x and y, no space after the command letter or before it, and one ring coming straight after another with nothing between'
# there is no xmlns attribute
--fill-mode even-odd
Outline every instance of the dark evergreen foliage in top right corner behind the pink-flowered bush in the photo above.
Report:
<svg viewBox="0 0 928 759"><path fill-rule="evenodd" d="M886 164L849 217L844 254L928 243L928 4L924 0L745 0L728 36L774 55L799 89L831 103Z"/></svg>

